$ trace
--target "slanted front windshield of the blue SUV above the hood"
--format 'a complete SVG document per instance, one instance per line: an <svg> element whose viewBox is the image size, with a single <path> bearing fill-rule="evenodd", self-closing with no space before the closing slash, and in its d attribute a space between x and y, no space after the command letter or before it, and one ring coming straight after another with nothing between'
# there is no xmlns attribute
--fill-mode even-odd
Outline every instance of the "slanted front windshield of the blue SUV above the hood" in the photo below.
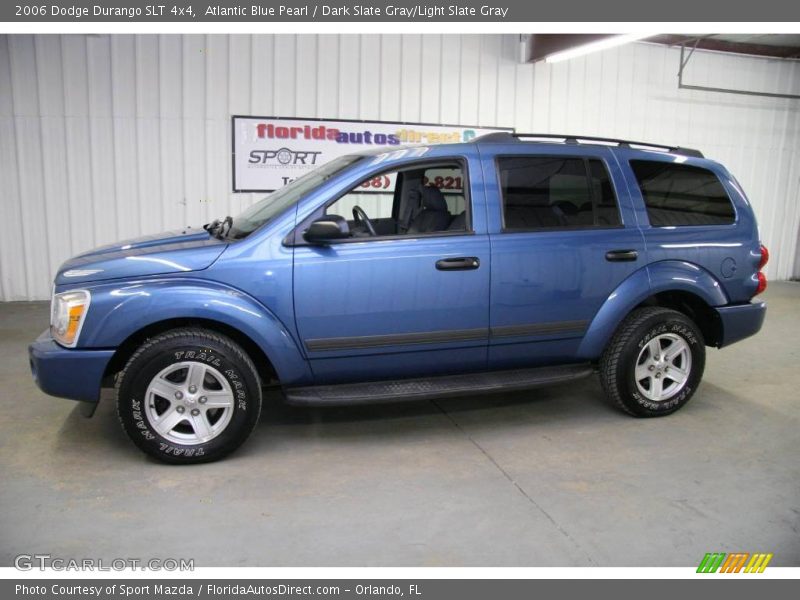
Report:
<svg viewBox="0 0 800 600"><path fill-rule="evenodd" d="M362 158L364 157L357 155L340 156L295 179L286 187L272 192L233 218L228 237L239 239L248 236L307 193Z"/></svg>

